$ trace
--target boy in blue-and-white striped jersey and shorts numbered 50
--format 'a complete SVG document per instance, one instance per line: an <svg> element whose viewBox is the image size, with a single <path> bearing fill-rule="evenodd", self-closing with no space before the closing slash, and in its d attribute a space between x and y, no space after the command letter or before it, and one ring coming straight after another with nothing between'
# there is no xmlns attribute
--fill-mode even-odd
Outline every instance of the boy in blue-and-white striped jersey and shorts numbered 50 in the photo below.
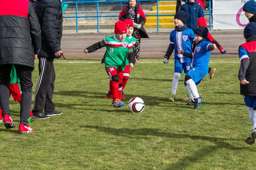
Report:
<svg viewBox="0 0 256 170"><path fill-rule="evenodd" d="M191 67L192 59L184 57L182 54L178 54L178 50L192 52L192 41L195 38L194 32L192 29L186 26L188 20L188 14L185 11L179 11L175 14L174 24L175 30L170 34L170 44L166 51L166 54L163 59L163 63L167 64L170 56L172 55L173 50L174 54L174 75L172 79L172 95L169 98L170 102L174 102L176 98L176 90L178 86L178 81L180 79L180 74L184 70L184 73L187 74ZM186 95L182 101L187 101L188 95Z"/></svg>

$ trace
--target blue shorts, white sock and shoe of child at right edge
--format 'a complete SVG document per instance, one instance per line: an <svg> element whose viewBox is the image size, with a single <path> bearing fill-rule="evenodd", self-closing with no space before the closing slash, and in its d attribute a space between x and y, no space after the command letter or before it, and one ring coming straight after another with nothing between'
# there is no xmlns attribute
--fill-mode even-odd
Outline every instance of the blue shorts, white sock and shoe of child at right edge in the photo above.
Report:
<svg viewBox="0 0 256 170"><path fill-rule="evenodd" d="M244 102L247 106L247 111L249 113L250 122L253 125L253 128L246 138L245 142L247 144L254 144L256 141L256 97L255 96L244 96Z"/></svg>

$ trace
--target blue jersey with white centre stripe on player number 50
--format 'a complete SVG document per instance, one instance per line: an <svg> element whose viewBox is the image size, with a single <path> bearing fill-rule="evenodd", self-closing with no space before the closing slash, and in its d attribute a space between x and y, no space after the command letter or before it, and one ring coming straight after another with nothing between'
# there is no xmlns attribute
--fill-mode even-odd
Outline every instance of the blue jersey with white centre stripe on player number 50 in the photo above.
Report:
<svg viewBox="0 0 256 170"><path fill-rule="evenodd" d="M195 35L192 29L187 28L184 31L173 30L170 34L170 42L174 44L174 58L179 59L181 63L192 62L188 57L184 57L182 54L178 54L178 50L183 50L188 53L192 53L191 44L194 40Z"/></svg>

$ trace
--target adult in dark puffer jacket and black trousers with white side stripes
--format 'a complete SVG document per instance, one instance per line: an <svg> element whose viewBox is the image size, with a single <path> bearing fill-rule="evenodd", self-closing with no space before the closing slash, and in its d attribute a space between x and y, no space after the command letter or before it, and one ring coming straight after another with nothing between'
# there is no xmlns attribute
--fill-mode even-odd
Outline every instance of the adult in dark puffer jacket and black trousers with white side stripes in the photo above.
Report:
<svg viewBox="0 0 256 170"><path fill-rule="evenodd" d="M62 55L61 1L37 0L35 13L41 26L42 47L38 54L39 79L35 89L32 113L37 119L49 119L49 116L62 114L55 110L55 104L52 102L55 83L53 60Z"/></svg>

